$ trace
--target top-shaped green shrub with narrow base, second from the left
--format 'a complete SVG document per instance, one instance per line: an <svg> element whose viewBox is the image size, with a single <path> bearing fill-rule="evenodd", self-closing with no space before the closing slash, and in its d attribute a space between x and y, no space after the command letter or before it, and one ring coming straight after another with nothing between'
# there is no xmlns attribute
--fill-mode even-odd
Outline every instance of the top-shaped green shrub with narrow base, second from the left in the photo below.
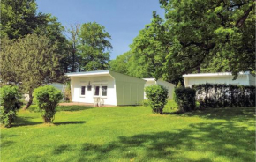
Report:
<svg viewBox="0 0 256 162"><path fill-rule="evenodd" d="M33 93L34 101L41 111L45 123L53 122L58 102L63 99L62 93L52 85L38 87Z"/></svg>

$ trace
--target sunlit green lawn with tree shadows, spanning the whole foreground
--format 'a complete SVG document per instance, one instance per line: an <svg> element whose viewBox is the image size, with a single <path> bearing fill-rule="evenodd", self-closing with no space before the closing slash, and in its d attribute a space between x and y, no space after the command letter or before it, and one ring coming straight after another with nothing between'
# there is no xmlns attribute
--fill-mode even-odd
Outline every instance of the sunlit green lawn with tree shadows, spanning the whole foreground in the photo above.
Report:
<svg viewBox="0 0 256 162"><path fill-rule="evenodd" d="M254 107L170 107L163 115L142 106L58 107L52 125L20 110L12 128L1 128L1 161L255 160Z"/></svg>

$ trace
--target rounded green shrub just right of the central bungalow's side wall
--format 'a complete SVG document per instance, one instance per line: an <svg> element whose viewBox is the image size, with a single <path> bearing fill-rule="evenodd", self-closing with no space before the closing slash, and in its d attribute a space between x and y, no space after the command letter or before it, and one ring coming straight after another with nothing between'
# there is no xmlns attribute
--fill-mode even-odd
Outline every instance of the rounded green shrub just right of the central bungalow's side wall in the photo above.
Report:
<svg viewBox="0 0 256 162"><path fill-rule="evenodd" d="M167 103L168 90L162 85L150 85L145 88L145 92L152 111L162 114L162 109Z"/></svg>

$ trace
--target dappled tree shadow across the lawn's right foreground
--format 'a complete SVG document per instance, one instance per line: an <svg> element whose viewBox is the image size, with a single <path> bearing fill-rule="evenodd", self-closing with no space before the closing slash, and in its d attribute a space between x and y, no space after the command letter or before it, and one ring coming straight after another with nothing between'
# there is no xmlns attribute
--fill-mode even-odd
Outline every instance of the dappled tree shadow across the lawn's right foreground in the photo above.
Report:
<svg viewBox="0 0 256 162"><path fill-rule="evenodd" d="M121 161L253 161L254 135L254 130L233 122L198 123L185 129L119 136L108 144L57 145L52 154L69 152L76 155L70 158L75 161L109 157Z"/></svg>

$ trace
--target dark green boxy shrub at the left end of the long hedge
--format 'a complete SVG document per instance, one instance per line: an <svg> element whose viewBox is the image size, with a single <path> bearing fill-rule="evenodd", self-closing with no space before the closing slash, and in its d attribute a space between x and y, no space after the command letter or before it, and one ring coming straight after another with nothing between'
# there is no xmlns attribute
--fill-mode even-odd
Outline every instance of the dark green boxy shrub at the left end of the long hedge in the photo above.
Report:
<svg viewBox="0 0 256 162"><path fill-rule="evenodd" d="M196 107L195 90L191 88L177 87L175 90L175 102L181 112L192 111Z"/></svg>

